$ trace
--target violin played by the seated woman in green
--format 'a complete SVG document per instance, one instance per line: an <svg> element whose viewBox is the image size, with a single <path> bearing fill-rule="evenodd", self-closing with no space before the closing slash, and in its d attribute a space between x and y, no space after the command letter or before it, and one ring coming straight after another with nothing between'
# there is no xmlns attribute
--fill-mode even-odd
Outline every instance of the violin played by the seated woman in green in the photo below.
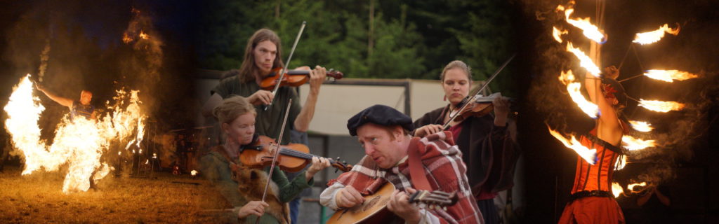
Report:
<svg viewBox="0 0 719 224"><path fill-rule="evenodd" d="M239 161L247 167L262 169L272 165L275 149L280 150L277 164L275 165L280 166L280 169L286 172L301 171L312 161L312 157L317 157L309 154L310 149L306 145L287 144L278 147L275 139L268 136L258 136L255 142L240 151ZM329 159L329 163L332 167L342 170L342 172L348 172L352 169L352 165L338 160L339 157Z"/></svg>

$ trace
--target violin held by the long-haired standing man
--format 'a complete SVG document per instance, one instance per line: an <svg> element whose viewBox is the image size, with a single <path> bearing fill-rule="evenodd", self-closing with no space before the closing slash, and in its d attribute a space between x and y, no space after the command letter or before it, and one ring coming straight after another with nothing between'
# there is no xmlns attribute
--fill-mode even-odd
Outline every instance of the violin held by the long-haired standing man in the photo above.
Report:
<svg viewBox="0 0 719 224"><path fill-rule="evenodd" d="M282 70L282 67L275 67L269 74L265 75L265 78L260 82L260 88L263 90L273 90L275 85L277 85L278 79L280 79L280 75L278 74L280 70ZM310 70L288 70L285 71L285 75L282 76L280 86L296 87L310 80ZM340 71L330 69L327 71L327 76L338 80L342 79L344 74Z"/></svg>

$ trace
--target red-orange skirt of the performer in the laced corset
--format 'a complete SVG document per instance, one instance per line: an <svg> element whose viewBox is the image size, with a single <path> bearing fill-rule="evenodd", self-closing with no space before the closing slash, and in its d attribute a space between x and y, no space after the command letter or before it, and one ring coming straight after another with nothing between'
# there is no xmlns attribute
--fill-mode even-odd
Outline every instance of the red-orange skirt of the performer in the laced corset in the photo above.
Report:
<svg viewBox="0 0 719 224"><path fill-rule="evenodd" d="M582 197L564 207L559 223L624 223L624 215L613 198Z"/></svg>

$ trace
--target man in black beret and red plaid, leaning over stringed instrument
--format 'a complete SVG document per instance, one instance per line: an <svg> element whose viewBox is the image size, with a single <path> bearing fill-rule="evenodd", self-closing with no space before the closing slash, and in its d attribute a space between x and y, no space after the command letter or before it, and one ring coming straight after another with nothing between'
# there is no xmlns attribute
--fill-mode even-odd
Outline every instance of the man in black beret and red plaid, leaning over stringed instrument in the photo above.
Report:
<svg viewBox="0 0 719 224"><path fill-rule="evenodd" d="M364 202L362 195L375 192L389 182L395 192L388 210L406 223L482 223L482 214L472 197L462 153L454 145L452 133L440 131L420 139L412 137L412 119L389 106L375 105L357 113L347 121L349 134L357 136L365 149L365 157L352 171L328 183L320 202L326 207L354 207ZM408 193L416 192L419 177L408 175L412 161L421 163L431 190L457 192L458 202L447 210L426 209L411 204ZM429 213L426 213L429 211Z"/></svg>

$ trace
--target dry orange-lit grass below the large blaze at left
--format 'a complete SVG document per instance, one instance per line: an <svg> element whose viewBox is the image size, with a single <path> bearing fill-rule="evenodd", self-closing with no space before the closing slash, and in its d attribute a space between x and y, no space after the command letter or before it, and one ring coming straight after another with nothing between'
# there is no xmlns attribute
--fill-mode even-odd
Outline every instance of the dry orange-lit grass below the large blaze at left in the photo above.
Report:
<svg viewBox="0 0 719 224"><path fill-rule="evenodd" d="M65 195L63 174L0 173L0 223L226 223L230 207L206 180L155 173L157 179L105 177L99 190ZM177 184L193 182L200 185Z"/></svg>

